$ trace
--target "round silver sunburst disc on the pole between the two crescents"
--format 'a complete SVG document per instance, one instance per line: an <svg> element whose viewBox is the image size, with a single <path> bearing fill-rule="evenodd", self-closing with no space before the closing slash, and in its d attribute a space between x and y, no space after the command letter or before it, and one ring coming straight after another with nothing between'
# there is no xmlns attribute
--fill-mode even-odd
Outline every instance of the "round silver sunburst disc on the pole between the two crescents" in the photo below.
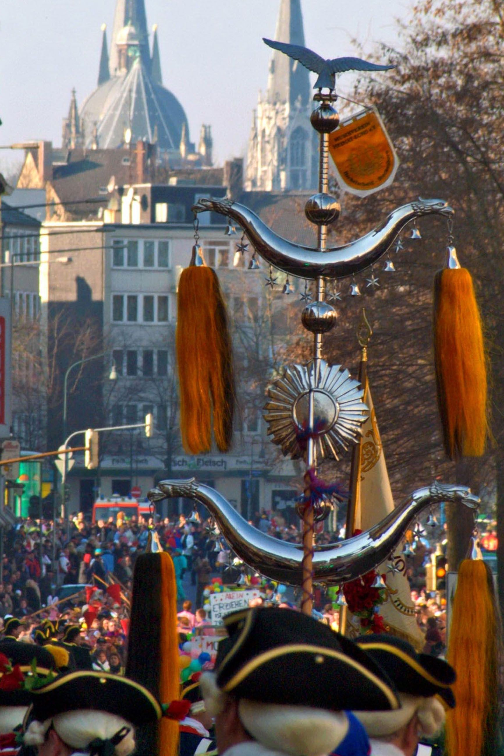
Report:
<svg viewBox="0 0 504 756"><path fill-rule="evenodd" d="M314 432L317 457L339 459L339 448L347 450L360 436L368 414L360 383L341 365L314 361L292 365L267 389L270 401L264 406L268 435L283 454L293 460L305 457L308 435L310 392L314 394Z"/></svg>

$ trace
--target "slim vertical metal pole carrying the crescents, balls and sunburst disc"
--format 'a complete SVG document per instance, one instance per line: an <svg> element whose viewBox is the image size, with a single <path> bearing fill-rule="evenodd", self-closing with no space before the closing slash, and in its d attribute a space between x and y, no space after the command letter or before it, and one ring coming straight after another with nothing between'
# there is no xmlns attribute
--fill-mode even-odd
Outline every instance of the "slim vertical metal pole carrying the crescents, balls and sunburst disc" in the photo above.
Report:
<svg viewBox="0 0 504 756"><path fill-rule="evenodd" d="M319 153L319 192L326 194L329 191L329 134L320 134ZM324 252L327 241L327 226L318 227L317 246L319 252ZM317 302L323 302L325 295L325 281L322 276L317 278ZM314 334L314 383L317 383L320 373L320 359L322 358L322 334ZM308 448L306 464L308 469L317 467L317 448L313 436L315 424L314 392L310 389L308 395ZM303 562L302 562L302 589L301 612L311 615L314 605L313 593L313 555L314 555L314 510L308 507L303 516Z"/></svg>

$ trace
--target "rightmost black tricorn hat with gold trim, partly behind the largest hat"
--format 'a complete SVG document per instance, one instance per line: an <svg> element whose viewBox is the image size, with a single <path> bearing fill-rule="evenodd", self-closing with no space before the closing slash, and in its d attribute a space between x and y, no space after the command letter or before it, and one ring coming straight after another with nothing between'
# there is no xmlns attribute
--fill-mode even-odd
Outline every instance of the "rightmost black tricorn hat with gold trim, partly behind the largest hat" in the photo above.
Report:
<svg viewBox="0 0 504 756"><path fill-rule="evenodd" d="M392 635L363 635L356 643L387 672L399 692L441 696L450 708L455 706L450 686L456 673L444 659L418 654L406 640Z"/></svg>

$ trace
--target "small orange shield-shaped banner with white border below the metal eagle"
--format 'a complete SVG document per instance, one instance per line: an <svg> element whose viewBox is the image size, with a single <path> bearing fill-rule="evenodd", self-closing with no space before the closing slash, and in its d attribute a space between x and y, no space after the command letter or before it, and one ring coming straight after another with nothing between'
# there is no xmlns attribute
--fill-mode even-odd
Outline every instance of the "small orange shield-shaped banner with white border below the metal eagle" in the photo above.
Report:
<svg viewBox="0 0 504 756"><path fill-rule="evenodd" d="M394 181L399 160L376 108L342 119L329 134L329 152L342 191L366 197Z"/></svg>

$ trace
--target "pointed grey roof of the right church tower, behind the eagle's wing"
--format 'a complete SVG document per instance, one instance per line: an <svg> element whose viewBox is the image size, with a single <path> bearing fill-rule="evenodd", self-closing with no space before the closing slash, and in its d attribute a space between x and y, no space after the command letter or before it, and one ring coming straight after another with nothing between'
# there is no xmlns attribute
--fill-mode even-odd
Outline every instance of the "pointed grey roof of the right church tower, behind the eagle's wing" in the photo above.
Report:
<svg viewBox="0 0 504 756"><path fill-rule="evenodd" d="M280 0L274 39L277 42L305 46L301 0ZM291 106L298 101L301 105L310 101L308 71L297 60L292 60L278 50L274 51L270 62L267 100L271 103L288 102Z"/></svg>

